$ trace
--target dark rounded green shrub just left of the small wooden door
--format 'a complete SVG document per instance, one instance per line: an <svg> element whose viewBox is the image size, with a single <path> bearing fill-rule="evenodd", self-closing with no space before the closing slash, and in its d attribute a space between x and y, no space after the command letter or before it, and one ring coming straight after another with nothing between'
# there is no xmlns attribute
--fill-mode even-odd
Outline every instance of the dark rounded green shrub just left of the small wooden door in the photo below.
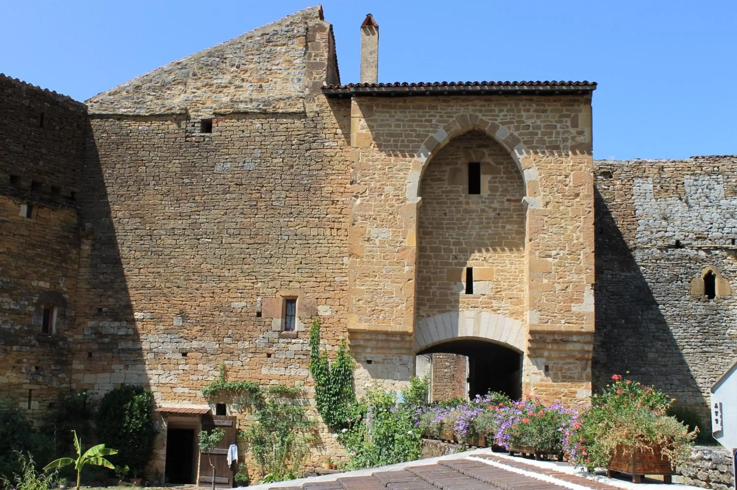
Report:
<svg viewBox="0 0 737 490"><path fill-rule="evenodd" d="M100 400L97 436L119 451L113 464L128 465L133 475L143 471L153 450L153 409L153 393L141 386L122 385Z"/></svg>

